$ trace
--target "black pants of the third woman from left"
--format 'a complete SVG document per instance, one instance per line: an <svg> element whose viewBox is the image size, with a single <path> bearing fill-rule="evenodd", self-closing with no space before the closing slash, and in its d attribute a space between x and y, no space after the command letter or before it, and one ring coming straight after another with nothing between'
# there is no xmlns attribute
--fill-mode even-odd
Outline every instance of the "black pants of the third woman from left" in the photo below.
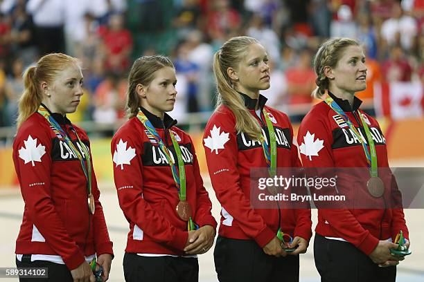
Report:
<svg viewBox="0 0 424 282"><path fill-rule="evenodd" d="M213 256L220 282L299 281L299 256L269 256L255 241L218 236Z"/></svg>

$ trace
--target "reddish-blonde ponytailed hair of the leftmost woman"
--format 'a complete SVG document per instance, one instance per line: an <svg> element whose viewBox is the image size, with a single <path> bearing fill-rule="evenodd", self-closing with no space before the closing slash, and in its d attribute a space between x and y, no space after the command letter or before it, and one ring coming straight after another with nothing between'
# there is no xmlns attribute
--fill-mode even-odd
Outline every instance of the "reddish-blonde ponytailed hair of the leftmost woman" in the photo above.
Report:
<svg viewBox="0 0 424 282"><path fill-rule="evenodd" d="M69 64L79 64L78 59L62 53L51 53L41 57L35 66L29 66L24 73L24 93L19 98L17 128L30 115L37 111L42 103L42 82L50 84L55 75L63 71Z"/></svg>

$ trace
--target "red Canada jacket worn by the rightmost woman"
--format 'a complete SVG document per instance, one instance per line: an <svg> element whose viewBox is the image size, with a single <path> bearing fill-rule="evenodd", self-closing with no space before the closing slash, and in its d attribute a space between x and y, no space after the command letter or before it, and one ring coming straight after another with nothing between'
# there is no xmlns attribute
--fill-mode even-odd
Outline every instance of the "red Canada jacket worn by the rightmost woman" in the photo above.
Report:
<svg viewBox="0 0 424 282"><path fill-rule="evenodd" d="M330 96L366 138L358 111L362 101L355 97L351 107L347 100L341 100L331 93ZM376 144L378 167L389 167L386 140L378 122L370 115L362 111L360 113L364 116ZM297 136L299 146L306 144L306 135L313 134L315 142L324 141L324 147L317 152L318 156L306 156L301 150L304 167L367 167L360 141L326 102L313 106L303 118ZM361 185L363 191L367 191L366 180L360 184L350 183L351 189L358 191L359 186L355 185ZM391 181L397 189L396 180L392 178ZM387 182L385 185L387 187ZM385 194L387 195L387 188ZM405 238L409 238L403 209L319 209L315 231L322 236L344 238L368 255L376 248L379 240L394 239L400 229L403 230Z"/></svg>

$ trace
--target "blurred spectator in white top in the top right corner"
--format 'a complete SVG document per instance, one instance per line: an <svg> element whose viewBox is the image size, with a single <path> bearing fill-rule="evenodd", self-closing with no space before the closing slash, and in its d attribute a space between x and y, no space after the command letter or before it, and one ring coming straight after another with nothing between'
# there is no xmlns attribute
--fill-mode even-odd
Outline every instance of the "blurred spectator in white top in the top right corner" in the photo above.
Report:
<svg viewBox="0 0 424 282"><path fill-rule="evenodd" d="M392 6L391 18L382 23L381 36L388 46L400 44L406 51L414 47L418 35L416 19L403 14L400 3Z"/></svg>

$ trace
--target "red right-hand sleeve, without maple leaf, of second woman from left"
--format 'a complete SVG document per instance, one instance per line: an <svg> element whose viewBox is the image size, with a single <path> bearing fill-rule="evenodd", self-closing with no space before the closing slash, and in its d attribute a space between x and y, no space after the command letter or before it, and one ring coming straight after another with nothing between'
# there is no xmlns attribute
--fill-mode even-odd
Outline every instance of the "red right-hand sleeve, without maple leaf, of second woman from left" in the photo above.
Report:
<svg viewBox="0 0 424 282"><path fill-rule="evenodd" d="M211 225L214 229L216 229L216 220L213 218L211 210L212 203L209 199L209 194L203 186L202 176L200 175L199 162L197 161L197 156L195 153L195 147L193 144L193 140L191 140L191 146L193 148L193 167L195 173L195 182L197 187L197 207L196 207L196 216L194 218L195 223L202 227L204 225Z"/></svg>

